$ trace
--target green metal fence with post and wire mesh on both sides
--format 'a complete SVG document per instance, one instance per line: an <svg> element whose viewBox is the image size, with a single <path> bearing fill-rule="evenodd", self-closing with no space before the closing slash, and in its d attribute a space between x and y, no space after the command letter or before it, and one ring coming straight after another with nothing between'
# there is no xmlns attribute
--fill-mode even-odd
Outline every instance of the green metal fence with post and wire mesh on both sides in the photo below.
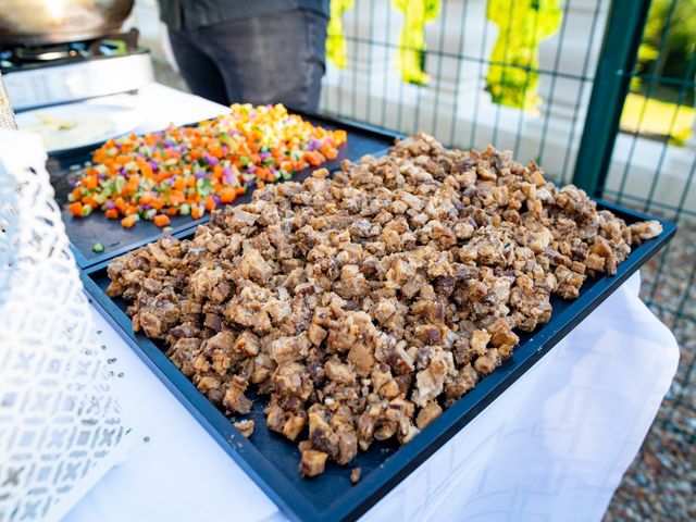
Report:
<svg viewBox="0 0 696 522"><path fill-rule="evenodd" d="M343 28L330 30L335 54L322 111L424 130L460 148L493 144L536 160L558 182L679 222L673 246L644 271L643 295L682 349L668 396L675 408L664 411L691 411L660 422L693 438L696 144L675 145L672 130L680 111L693 108L696 52L680 77L638 63L648 26L652 62L660 62L683 15L680 2L691 0L334 0ZM657 22L651 8L662 9ZM643 123L648 100L664 89L673 114L658 115L669 128L655 136ZM631 92L645 102L636 129L625 133Z"/></svg>

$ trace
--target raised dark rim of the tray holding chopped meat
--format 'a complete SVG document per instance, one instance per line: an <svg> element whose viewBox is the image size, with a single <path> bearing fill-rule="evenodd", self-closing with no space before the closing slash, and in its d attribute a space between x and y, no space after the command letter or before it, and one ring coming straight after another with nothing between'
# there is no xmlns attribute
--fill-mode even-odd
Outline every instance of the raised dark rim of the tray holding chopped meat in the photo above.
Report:
<svg viewBox="0 0 696 522"><path fill-rule="evenodd" d="M348 489L323 511L316 509L303 497L301 492L277 471L251 442L241 436L233 423L184 376L154 343L142 334L134 335L130 330L130 320L90 277L90 274L103 270L109 261L80 269L79 272L85 289L90 296L90 301L97 304L104 319L285 515L290 520L311 522L357 520L549 352L671 240L676 232L676 226L666 220L652 217L616 203L599 199L594 200L600 210L610 210L621 217L659 221L663 231L658 237L633 249L629 258L619 265L616 275L602 276L595 285L581 294L580 298L572 301L568 308L560 313L555 312L555 319L561 319L561 325L558 328L549 331L549 325L545 325L534 334L532 339L515 349L515 353L519 353L524 345L534 345L533 351L525 355L524 359L514 363L512 360L504 362L495 372L482 380L476 387L445 410L412 442L386 458L378 469L363 477L359 484ZM191 232L189 228L175 234L175 236L186 236Z"/></svg>

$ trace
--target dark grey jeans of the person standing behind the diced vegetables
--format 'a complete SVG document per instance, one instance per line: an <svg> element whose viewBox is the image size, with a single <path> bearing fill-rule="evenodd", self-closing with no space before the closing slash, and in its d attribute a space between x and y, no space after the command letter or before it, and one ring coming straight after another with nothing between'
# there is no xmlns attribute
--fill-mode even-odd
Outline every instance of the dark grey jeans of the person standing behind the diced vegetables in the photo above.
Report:
<svg viewBox="0 0 696 522"><path fill-rule="evenodd" d="M222 73L231 102L283 103L316 111L327 20L306 11L207 27L196 41Z"/></svg>

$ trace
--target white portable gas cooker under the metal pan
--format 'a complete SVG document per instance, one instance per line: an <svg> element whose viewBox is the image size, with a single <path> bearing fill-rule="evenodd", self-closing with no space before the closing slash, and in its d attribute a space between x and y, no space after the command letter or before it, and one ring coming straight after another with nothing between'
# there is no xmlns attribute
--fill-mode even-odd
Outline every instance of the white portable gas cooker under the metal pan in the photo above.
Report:
<svg viewBox="0 0 696 522"><path fill-rule="evenodd" d="M29 46L0 44L0 72L15 111L135 92L152 82L138 32Z"/></svg>

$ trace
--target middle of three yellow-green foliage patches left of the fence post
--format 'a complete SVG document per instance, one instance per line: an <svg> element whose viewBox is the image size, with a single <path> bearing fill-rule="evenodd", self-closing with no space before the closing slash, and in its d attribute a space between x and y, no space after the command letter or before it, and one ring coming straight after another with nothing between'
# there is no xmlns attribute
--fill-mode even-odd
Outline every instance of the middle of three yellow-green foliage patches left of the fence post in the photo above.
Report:
<svg viewBox="0 0 696 522"><path fill-rule="evenodd" d="M423 71L425 24L439 13L439 0L391 0L403 12L397 63L407 84L425 85L430 76Z"/></svg>

